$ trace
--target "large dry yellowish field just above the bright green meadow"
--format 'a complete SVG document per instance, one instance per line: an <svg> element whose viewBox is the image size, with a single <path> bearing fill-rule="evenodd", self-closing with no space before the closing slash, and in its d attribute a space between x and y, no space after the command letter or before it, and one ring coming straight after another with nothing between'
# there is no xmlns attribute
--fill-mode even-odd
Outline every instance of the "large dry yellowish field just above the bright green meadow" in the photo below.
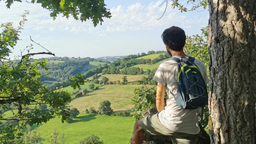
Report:
<svg viewBox="0 0 256 144"><path fill-rule="evenodd" d="M111 108L114 111L118 110L131 110L133 105L131 99L134 96L134 89L140 85L128 84L128 85L105 85L98 90L90 92L88 96L82 96L73 100L70 106L77 108L80 111L84 111L86 108L94 107L98 109L100 102L108 100L111 102Z"/></svg>

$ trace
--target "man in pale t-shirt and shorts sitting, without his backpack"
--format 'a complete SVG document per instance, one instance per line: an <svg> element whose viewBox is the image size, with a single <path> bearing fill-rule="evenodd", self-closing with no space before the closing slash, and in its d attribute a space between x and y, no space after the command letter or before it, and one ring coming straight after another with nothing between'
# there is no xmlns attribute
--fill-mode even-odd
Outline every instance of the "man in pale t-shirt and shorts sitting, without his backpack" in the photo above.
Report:
<svg viewBox="0 0 256 144"><path fill-rule="evenodd" d="M180 60L188 60L183 47L186 42L186 34L179 27L172 26L164 30L162 40L166 50L172 57ZM194 60L194 64L200 69L206 84L209 79L206 68L200 60ZM132 135L132 144L142 144L144 132L150 135L166 135L172 138L173 144L196 144L200 132L198 113L200 108L188 110L180 108L174 99L177 93L177 69L178 63L173 60L162 62L154 80L158 82L156 90L157 114L136 121ZM167 88L166 104L164 103L165 89Z"/></svg>

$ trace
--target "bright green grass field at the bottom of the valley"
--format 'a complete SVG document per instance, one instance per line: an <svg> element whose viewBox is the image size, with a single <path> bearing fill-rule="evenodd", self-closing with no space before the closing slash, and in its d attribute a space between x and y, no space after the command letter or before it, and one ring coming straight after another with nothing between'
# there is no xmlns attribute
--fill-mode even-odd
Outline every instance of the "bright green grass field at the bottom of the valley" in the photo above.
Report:
<svg viewBox="0 0 256 144"><path fill-rule="evenodd" d="M131 117L79 114L71 124L62 123L60 118L54 118L46 124L32 128L40 133L42 144L47 144L54 129L60 134L64 132L66 144L74 144L79 139L92 134L100 137L104 144L126 144L132 136L133 126Z"/></svg>

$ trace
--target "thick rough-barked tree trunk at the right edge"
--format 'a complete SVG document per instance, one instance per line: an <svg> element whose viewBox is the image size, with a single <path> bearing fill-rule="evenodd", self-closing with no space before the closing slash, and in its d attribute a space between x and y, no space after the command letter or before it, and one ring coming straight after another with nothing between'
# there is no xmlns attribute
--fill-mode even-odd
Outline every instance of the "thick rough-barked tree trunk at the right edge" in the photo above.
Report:
<svg viewBox="0 0 256 144"><path fill-rule="evenodd" d="M212 144L256 143L256 0L209 0Z"/></svg>

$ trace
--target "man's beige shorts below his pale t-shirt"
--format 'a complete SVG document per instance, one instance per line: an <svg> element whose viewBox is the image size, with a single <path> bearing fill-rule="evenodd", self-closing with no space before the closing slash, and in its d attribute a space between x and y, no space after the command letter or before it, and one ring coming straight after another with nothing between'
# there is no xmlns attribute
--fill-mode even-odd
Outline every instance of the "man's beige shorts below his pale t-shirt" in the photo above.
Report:
<svg viewBox="0 0 256 144"><path fill-rule="evenodd" d="M167 129L158 119L158 113L140 120L146 134L171 136L172 144L196 144L199 134L185 134Z"/></svg>

